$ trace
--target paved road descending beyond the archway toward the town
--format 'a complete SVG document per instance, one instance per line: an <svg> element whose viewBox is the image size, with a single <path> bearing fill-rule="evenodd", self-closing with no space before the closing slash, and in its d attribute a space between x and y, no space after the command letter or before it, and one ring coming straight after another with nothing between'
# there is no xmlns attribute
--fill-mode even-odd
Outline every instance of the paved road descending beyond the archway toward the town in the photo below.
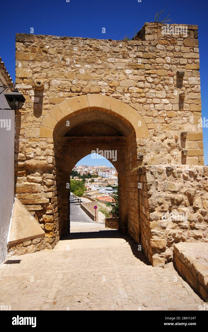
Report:
<svg viewBox="0 0 208 332"><path fill-rule="evenodd" d="M82 203L91 202L87 198L81 197ZM87 225L86 225L87 223ZM80 207L80 203L75 200L75 198L70 198L70 231L74 228L96 228L103 227L104 222L95 222L93 221Z"/></svg>

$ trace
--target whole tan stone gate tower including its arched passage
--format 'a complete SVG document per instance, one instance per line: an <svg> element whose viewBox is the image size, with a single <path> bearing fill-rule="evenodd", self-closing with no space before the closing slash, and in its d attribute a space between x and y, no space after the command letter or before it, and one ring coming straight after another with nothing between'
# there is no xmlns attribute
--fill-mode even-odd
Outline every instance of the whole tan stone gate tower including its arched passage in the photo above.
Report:
<svg viewBox="0 0 208 332"><path fill-rule="evenodd" d="M162 187L166 165L196 165L192 166L196 172L203 165L197 26L188 26L185 38L164 36L161 24L146 23L139 38L16 35L16 87L26 104L16 114L15 194L34 214L53 247L68 231L66 183L72 168L96 148L117 150L117 160L109 160L118 171L120 229L127 228L141 241L156 265L171 259L176 235L170 230L171 235L166 230L164 238L151 233L152 228L160 228L158 222L150 227L160 202L150 206L150 190L140 191L138 179L149 186L154 176L146 178L144 169L144 174L132 170L142 162L160 165L148 167L156 172L157 167L162 169L158 187L165 207L171 203L175 208L174 198L165 198L165 193L179 195L182 189L178 193L175 188L172 194L174 181L169 179ZM191 189L192 180L196 185L202 180L200 174L198 180L188 175L180 181ZM156 186L155 177L152 182ZM196 213L183 200L180 205L190 209L191 215ZM177 233L178 240L183 240L183 232ZM189 238L194 239L192 233Z"/></svg>

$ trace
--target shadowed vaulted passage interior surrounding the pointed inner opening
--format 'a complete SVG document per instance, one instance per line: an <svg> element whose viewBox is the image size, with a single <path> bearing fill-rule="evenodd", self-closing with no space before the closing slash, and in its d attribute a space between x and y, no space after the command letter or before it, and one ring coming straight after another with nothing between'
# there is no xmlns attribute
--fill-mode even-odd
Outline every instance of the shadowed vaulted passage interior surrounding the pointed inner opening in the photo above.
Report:
<svg viewBox="0 0 208 332"><path fill-rule="evenodd" d="M102 151L118 171L119 229L138 242L139 204L137 176L130 163L137 162L136 135L132 126L106 110L92 109L65 118L54 130L57 213L59 236L69 232L69 193L66 183L80 158Z"/></svg>

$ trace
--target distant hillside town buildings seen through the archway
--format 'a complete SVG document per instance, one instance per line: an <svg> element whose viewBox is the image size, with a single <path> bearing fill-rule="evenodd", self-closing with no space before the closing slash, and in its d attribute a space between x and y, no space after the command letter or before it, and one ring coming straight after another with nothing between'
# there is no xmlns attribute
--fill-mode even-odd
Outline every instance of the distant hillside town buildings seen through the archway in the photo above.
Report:
<svg viewBox="0 0 208 332"><path fill-rule="evenodd" d="M77 181L85 179L85 195L100 203L112 204L112 196L118 192L118 172L114 167L74 166L70 178Z"/></svg>

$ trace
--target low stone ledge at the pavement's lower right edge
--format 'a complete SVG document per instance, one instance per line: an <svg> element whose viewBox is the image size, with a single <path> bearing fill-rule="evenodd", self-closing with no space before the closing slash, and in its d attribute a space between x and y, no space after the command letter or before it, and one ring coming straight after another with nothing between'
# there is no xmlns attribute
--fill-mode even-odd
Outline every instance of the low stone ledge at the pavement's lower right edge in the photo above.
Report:
<svg viewBox="0 0 208 332"><path fill-rule="evenodd" d="M197 252L200 252L200 255ZM173 262L176 269L204 300L208 298L207 253L207 243L177 243L173 246Z"/></svg>

